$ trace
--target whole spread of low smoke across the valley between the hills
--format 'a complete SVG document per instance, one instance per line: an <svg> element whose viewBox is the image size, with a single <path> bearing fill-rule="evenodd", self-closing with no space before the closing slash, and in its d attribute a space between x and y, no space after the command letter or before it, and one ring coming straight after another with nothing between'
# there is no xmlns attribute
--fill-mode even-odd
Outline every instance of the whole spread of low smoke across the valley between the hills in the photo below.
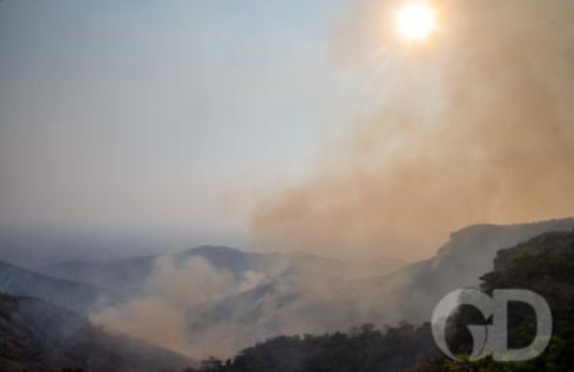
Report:
<svg viewBox="0 0 574 372"><path fill-rule="evenodd" d="M133 295L90 319L107 331L198 360L228 358L276 335L321 333L360 322L354 307L339 302L368 268L332 267L339 276L324 266L330 261L310 256L260 258L262 267L241 271L198 257L157 258Z"/></svg>

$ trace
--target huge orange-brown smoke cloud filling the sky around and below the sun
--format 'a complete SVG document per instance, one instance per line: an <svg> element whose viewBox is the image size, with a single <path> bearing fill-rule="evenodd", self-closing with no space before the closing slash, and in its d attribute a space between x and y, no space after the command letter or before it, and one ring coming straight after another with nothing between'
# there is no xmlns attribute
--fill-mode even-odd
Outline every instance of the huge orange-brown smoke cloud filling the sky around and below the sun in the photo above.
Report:
<svg viewBox="0 0 574 372"><path fill-rule="evenodd" d="M396 5L363 3L339 35L385 98L257 206L262 246L417 258L464 225L573 214L574 1L436 1L420 45L393 34Z"/></svg>

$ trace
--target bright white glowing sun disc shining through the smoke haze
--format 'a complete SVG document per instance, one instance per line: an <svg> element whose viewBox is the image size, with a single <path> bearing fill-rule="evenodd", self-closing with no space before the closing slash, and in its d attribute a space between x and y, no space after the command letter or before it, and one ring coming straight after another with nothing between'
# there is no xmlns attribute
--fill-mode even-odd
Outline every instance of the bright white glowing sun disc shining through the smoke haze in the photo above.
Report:
<svg viewBox="0 0 574 372"><path fill-rule="evenodd" d="M436 29L436 11L425 1L404 4L396 12L396 31L409 41L424 41Z"/></svg>

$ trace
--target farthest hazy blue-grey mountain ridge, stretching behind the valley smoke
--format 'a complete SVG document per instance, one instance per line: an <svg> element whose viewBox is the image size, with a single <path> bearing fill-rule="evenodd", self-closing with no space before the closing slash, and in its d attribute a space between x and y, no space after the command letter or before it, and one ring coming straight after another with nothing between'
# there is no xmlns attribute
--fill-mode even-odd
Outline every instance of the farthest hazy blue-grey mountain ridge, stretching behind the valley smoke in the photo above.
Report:
<svg viewBox="0 0 574 372"><path fill-rule="evenodd" d="M389 259L368 266L323 258L301 253L256 253L231 247L205 245L167 255L176 262L189 258L203 258L216 269L226 269L235 274L245 271L279 276L286 271L317 273L330 276L351 277L383 274L396 269L404 262ZM96 287L134 296L152 272L156 260L166 256L145 256L109 261L63 261L39 267L39 271L55 278L83 282Z"/></svg>

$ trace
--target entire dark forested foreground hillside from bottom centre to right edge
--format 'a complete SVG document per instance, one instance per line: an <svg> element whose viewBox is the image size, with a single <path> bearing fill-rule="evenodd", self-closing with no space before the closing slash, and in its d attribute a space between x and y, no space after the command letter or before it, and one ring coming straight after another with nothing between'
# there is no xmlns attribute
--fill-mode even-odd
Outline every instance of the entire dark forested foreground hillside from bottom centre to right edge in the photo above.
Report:
<svg viewBox="0 0 574 372"><path fill-rule="evenodd" d="M553 337L540 357L527 362L454 362L441 356L429 324L420 327L403 323L385 331L372 325L347 333L279 337L245 349L225 362L211 358L202 369L211 372L570 372L574 366L574 231L543 234L498 253L495 269L481 278L481 289L529 289L545 298L554 319ZM509 312L511 347L530 344L533 338L533 312L528 307L511 307ZM469 333L465 326L476 311L463 308L451 320L452 349L468 352ZM474 323L476 324L476 323Z"/></svg>

